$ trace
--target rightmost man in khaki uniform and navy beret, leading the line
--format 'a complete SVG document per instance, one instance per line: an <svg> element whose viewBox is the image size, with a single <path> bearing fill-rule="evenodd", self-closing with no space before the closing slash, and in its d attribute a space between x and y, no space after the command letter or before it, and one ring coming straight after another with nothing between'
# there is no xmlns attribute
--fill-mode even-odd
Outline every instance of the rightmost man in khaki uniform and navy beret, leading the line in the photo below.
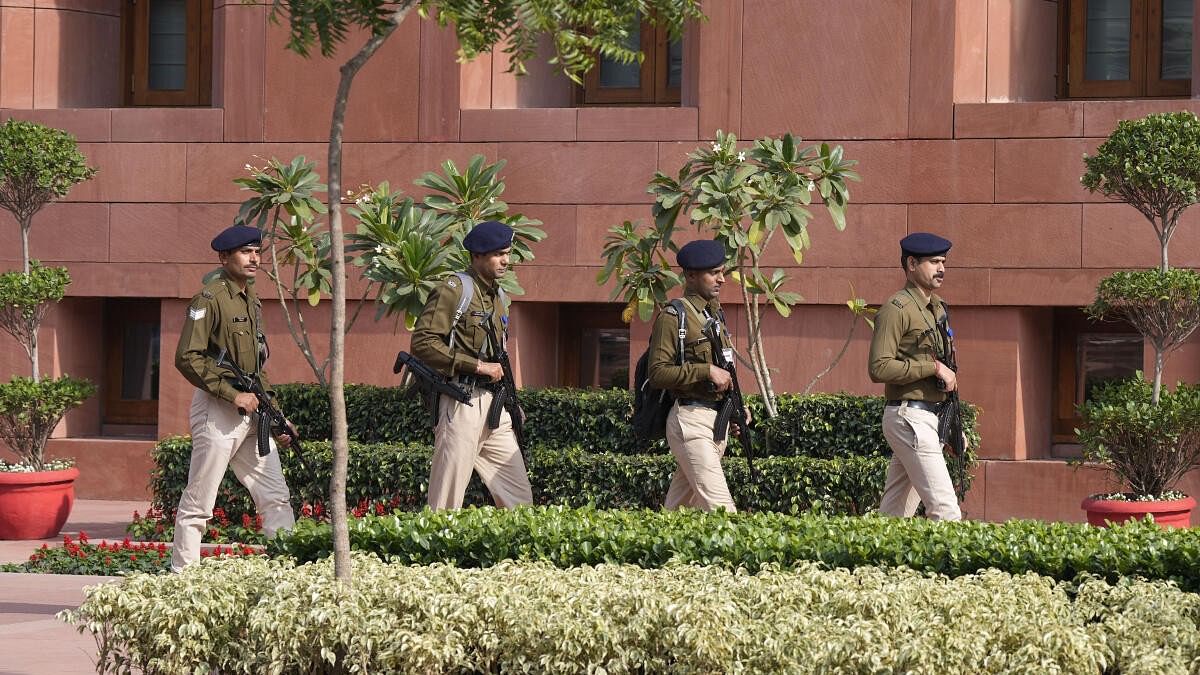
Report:
<svg viewBox="0 0 1200 675"><path fill-rule="evenodd" d="M910 516L924 502L934 520L961 520L950 473L937 436L937 412L958 388L938 353L937 321L946 313L934 292L942 287L950 241L918 232L900 240L900 265L908 282L875 316L868 371L883 383L883 436L892 462L880 510Z"/></svg>

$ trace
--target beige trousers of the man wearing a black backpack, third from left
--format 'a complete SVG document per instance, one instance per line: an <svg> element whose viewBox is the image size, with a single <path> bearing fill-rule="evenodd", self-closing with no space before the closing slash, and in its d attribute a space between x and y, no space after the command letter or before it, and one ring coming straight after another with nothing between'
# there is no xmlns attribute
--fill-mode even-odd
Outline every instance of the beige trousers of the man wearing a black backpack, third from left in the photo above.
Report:
<svg viewBox="0 0 1200 675"><path fill-rule="evenodd" d="M725 482L721 456L727 441L713 441L716 411L704 406L671 406L667 413L667 444L679 468L671 478L666 508L692 507L713 510L725 507L733 513L733 496ZM726 436L727 437L727 436Z"/></svg>

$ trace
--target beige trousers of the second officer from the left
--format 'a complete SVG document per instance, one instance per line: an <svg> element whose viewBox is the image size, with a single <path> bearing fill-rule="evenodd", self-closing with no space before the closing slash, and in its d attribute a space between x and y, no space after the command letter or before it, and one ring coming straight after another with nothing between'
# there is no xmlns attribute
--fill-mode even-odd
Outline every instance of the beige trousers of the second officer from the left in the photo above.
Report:
<svg viewBox="0 0 1200 675"><path fill-rule="evenodd" d="M532 504L529 472L508 411L500 413L499 426L488 429L492 393L473 387L470 404L460 404L445 395L439 402L430 467L430 508L462 508L472 470L479 473L497 506Z"/></svg>

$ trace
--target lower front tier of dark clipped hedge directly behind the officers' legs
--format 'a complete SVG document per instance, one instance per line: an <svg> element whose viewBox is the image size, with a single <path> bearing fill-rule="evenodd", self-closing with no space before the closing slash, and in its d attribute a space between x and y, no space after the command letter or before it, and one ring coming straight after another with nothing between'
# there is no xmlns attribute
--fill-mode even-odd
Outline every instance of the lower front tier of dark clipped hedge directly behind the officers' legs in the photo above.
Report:
<svg viewBox="0 0 1200 675"><path fill-rule="evenodd" d="M155 448L156 468L151 478L154 506L168 516L187 484L191 448L191 441L182 436L163 440ZM329 442L306 443L305 452L307 465L298 461L290 449L281 450L283 472L298 510L305 503L325 501L332 464ZM424 507L431 456L432 448L420 443L352 443L347 502L352 507L383 502L389 510ZM756 462L755 467L761 476L757 482L751 482L745 460L725 460L730 490L740 508L860 514L878 506L887 460L863 456L768 458ZM667 454L614 455L578 448L535 448L530 454L529 479L534 501L539 504L658 508L662 506L674 468L674 458ZM467 488L466 503L491 503L478 476L472 477ZM242 514L254 513L250 494L238 484L232 472L221 483L216 506L235 522Z"/></svg>

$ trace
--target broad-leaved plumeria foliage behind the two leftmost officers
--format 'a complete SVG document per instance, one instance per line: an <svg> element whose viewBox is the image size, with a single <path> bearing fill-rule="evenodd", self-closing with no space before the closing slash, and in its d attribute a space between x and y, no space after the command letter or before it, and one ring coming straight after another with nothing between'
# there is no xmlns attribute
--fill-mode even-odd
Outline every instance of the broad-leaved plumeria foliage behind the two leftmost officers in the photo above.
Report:
<svg viewBox="0 0 1200 675"><path fill-rule="evenodd" d="M347 192L354 199L347 213L356 222L356 232L347 235L347 262L359 268L364 281L362 297L346 323L347 333L372 301L377 321L403 317L410 329L437 283L468 267L462 238L485 220L504 221L516 232L514 264L500 285L512 295L524 293L516 265L534 258L530 244L545 239L546 233L536 227L540 221L508 213L500 199L504 163L490 165L475 155L466 172L460 172L452 161L443 162L442 173L428 172L415 181L430 191L421 203L394 191L388 181ZM317 381L328 386L331 353L316 352L305 317L305 307L319 305L334 280L330 234L323 217L328 210L318 197L325 185L313 166L304 156L290 162L271 159L264 167L246 165L248 175L234 183L254 196L242 202L236 222L263 232L263 246L271 253L268 276L288 331Z"/></svg>

